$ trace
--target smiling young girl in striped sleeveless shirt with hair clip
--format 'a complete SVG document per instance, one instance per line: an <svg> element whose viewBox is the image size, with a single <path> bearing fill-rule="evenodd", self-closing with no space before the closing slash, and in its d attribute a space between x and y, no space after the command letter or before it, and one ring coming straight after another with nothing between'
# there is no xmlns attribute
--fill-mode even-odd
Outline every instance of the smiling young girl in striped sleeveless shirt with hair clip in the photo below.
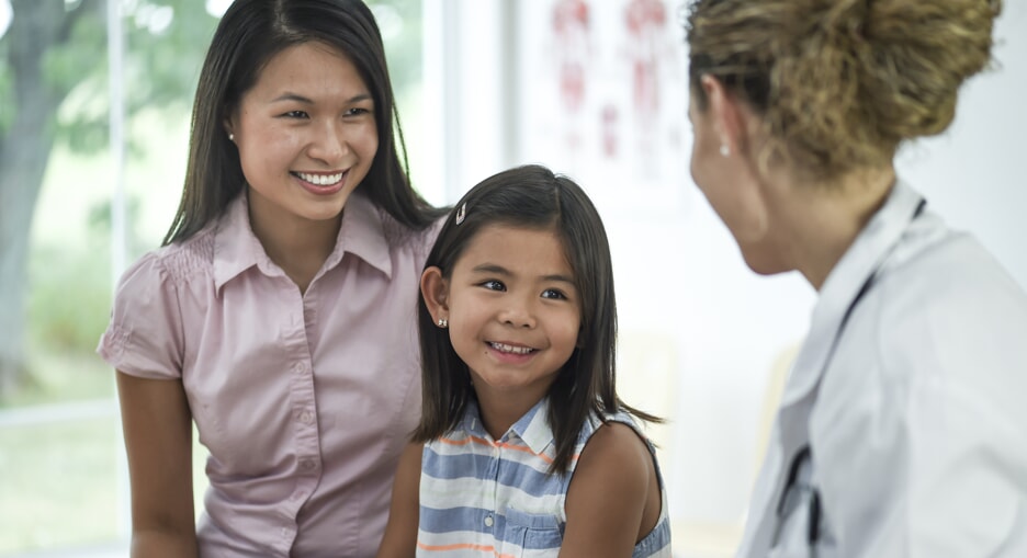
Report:
<svg viewBox="0 0 1027 558"><path fill-rule="evenodd" d="M424 415L379 556L670 556L652 445L614 389L602 221L541 167L456 204L421 275ZM630 414L629 414L630 413Z"/></svg>

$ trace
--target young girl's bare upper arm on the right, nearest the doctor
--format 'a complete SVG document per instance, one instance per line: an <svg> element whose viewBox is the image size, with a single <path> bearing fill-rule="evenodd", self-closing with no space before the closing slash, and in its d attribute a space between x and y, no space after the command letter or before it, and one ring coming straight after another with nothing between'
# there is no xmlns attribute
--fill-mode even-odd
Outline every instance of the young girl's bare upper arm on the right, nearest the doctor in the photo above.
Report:
<svg viewBox="0 0 1027 558"><path fill-rule="evenodd" d="M627 424L592 434L567 488L567 527L560 558L630 558L659 519L653 455Z"/></svg>

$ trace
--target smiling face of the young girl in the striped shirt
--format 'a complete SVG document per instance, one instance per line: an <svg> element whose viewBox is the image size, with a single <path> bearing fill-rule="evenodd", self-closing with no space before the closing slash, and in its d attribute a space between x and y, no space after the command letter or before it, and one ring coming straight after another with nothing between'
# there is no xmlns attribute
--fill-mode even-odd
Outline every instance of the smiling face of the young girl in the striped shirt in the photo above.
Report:
<svg viewBox="0 0 1027 558"><path fill-rule="evenodd" d="M551 229L489 225L471 240L444 282L443 314L479 399L545 396L578 343L575 284Z"/></svg>

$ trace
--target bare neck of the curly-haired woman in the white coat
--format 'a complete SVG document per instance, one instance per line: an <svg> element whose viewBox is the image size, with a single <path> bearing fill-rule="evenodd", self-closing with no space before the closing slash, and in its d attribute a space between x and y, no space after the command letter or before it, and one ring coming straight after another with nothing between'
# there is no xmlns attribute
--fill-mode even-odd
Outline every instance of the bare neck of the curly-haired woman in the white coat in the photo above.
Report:
<svg viewBox="0 0 1027 558"><path fill-rule="evenodd" d="M881 208L895 182L890 166L848 174L831 184L790 187L787 204L795 269L820 291L870 218Z"/></svg>

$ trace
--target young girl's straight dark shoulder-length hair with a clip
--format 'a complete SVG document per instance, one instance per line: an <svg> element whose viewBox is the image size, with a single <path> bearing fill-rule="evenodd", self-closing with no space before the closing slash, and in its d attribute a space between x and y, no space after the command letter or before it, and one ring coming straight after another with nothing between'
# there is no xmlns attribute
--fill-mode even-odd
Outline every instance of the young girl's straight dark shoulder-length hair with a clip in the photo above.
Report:
<svg viewBox="0 0 1027 558"><path fill-rule="evenodd" d="M585 192L566 176L544 167L526 166L485 179L455 205L436 240L425 267L437 266L450 278L453 266L477 232L489 225L553 230L563 242L580 296L579 346L549 390L549 422L556 455L551 472L567 469L578 432L589 417L625 410L647 420L656 417L628 407L617 396L617 304L610 244L599 212ZM461 208L463 220L455 214ZM428 442L451 432L474 397L471 372L438 328L424 298L418 305L422 371L422 414L414 433Z"/></svg>

